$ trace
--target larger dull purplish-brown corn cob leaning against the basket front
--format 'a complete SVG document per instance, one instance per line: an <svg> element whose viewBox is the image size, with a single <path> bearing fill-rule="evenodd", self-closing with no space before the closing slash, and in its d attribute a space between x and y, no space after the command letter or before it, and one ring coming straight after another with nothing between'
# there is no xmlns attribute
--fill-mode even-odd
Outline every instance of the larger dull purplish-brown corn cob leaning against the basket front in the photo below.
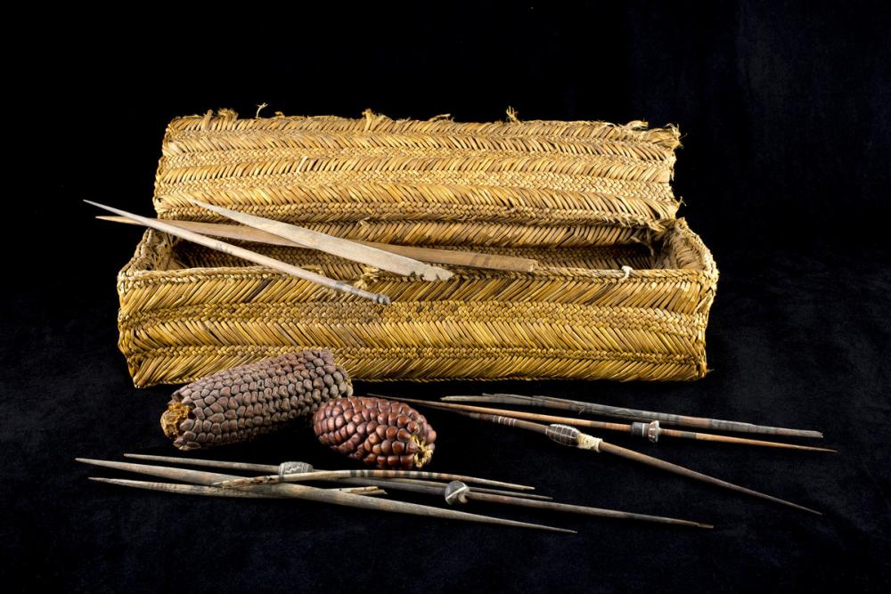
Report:
<svg viewBox="0 0 891 594"><path fill-rule="evenodd" d="M308 421L320 403L352 394L347 371L327 349L282 354L179 388L161 428L180 450L244 442Z"/></svg>

